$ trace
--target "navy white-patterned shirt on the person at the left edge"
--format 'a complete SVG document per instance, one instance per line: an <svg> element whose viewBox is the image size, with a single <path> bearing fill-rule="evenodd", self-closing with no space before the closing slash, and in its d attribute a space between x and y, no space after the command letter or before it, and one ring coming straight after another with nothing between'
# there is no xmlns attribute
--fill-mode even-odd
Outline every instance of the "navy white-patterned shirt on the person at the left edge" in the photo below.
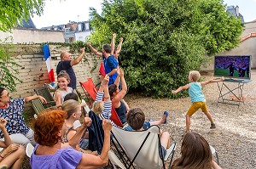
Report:
<svg viewBox="0 0 256 169"><path fill-rule="evenodd" d="M9 135L15 133L25 135L29 131L29 127L26 126L25 119L22 115L24 104L25 99L11 99L8 108L0 109L0 117L3 117L7 121L5 127ZM0 131L0 138L3 138L2 130Z"/></svg>

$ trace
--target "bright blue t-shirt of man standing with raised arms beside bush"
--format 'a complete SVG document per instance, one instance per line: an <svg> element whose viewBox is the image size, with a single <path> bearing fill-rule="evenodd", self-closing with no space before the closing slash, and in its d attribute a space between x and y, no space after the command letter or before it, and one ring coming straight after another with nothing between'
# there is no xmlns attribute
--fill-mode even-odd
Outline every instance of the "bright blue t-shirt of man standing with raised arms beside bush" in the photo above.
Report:
<svg viewBox="0 0 256 169"><path fill-rule="evenodd" d="M105 67L106 74L108 74L109 72L111 72L114 69L117 69L119 63L118 63L117 59L114 58L113 55L110 55L110 56L108 56L108 59L107 59L107 65L108 65L108 67ZM118 76L117 73L114 73L112 76L109 76L108 86L115 82L115 79L117 76Z"/></svg>

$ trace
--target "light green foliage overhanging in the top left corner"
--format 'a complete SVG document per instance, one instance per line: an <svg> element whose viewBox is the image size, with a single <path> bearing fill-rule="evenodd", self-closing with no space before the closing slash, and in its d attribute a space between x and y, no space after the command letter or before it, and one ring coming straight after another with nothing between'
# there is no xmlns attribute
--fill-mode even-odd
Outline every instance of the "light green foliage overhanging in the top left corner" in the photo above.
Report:
<svg viewBox="0 0 256 169"><path fill-rule="evenodd" d="M0 0L0 31L10 31L22 19L42 14L44 0Z"/></svg>

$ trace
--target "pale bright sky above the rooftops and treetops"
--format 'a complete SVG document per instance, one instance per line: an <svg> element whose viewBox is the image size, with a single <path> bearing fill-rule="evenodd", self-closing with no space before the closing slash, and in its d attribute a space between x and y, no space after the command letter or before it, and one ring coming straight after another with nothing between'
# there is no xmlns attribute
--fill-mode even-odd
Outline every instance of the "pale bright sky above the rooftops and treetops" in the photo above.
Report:
<svg viewBox="0 0 256 169"><path fill-rule="evenodd" d="M244 21L256 20L256 0L224 0L224 4L238 5L239 13L243 15ZM102 0L46 0L44 14L35 15L32 20L36 27L67 24L72 21L89 20L89 8L96 8L102 12Z"/></svg>

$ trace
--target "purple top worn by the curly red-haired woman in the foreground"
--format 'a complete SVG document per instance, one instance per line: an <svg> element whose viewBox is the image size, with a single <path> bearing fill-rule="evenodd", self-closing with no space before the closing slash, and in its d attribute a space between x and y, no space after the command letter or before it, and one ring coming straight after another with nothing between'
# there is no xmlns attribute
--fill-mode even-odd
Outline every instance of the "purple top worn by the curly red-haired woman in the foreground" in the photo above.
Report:
<svg viewBox="0 0 256 169"><path fill-rule="evenodd" d="M38 149L38 144L34 151L36 149ZM82 156L82 152L73 148L58 149L54 155L35 155L35 152L33 152L30 166L32 169L75 169L79 165Z"/></svg>

